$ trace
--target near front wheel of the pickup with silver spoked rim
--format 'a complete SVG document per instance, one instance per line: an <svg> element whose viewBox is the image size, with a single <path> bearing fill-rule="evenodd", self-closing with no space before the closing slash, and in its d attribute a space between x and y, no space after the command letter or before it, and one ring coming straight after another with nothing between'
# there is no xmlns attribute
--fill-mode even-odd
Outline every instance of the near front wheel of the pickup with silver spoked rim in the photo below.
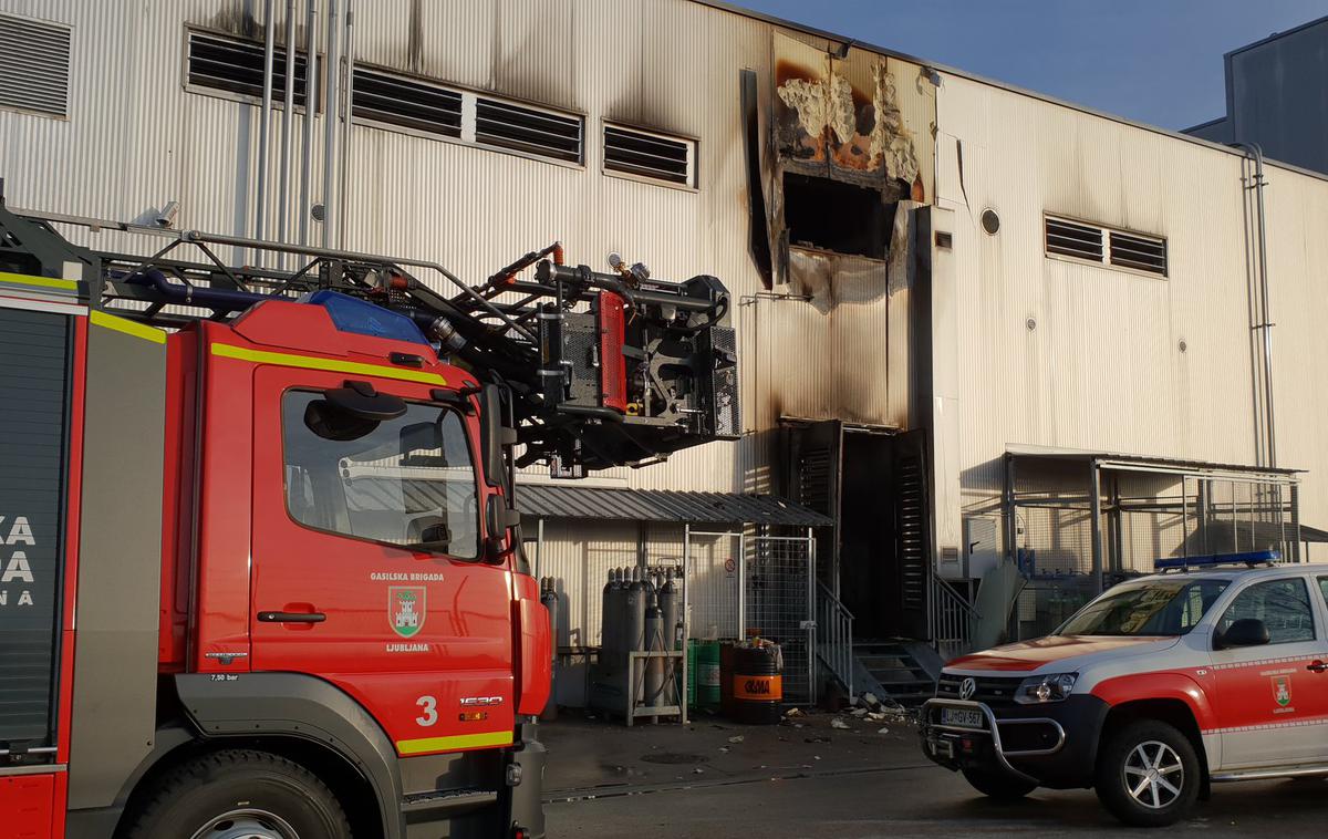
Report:
<svg viewBox="0 0 1328 839"><path fill-rule="evenodd" d="M1112 815L1135 827L1175 823L1194 804L1202 783L1190 738L1158 720L1129 724L1098 757L1098 799Z"/></svg>

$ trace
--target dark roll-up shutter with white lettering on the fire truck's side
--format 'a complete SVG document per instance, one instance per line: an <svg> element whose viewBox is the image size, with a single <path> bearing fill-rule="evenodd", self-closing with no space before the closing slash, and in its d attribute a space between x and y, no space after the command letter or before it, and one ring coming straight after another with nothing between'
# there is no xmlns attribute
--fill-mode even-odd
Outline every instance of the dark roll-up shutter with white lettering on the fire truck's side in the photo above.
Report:
<svg viewBox="0 0 1328 839"><path fill-rule="evenodd" d="M0 753L54 745L69 323L0 307Z"/></svg>

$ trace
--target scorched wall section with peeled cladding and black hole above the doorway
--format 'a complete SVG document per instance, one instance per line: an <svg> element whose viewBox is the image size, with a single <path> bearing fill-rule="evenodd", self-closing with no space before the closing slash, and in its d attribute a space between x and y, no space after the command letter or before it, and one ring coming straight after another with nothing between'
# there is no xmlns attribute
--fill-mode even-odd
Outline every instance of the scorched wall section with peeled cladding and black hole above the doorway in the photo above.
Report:
<svg viewBox="0 0 1328 839"><path fill-rule="evenodd" d="M923 413L910 362L912 230L935 183L934 74L784 32L772 58L762 174L774 289L802 303L758 307L757 352L773 353L758 423L912 427ZM778 372L794 358L814 373Z"/></svg>

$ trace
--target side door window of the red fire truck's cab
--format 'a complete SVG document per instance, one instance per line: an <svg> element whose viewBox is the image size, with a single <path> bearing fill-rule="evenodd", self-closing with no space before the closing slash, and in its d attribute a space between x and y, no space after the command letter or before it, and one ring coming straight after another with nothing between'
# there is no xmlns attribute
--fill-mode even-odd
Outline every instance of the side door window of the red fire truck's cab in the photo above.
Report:
<svg viewBox="0 0 1328 839"><path fill-rule="evenodd" d="M321 393L282 398L286 506L315 530L457 559L479 555L475 469L461 416L406 404L394 420L337 416Z"/></svg>

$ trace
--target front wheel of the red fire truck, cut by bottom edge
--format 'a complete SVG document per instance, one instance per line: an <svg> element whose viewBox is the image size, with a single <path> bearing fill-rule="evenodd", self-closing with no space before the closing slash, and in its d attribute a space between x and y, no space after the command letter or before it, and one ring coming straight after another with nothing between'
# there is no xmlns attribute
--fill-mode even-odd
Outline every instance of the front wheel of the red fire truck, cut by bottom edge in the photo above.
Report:
<svg viewBox="0 0 1328 839"><path fill-rule="evenodd" d="M332 791L299 763L227 750L175 769L139 811L129 839L349 839Z"/></svg>

